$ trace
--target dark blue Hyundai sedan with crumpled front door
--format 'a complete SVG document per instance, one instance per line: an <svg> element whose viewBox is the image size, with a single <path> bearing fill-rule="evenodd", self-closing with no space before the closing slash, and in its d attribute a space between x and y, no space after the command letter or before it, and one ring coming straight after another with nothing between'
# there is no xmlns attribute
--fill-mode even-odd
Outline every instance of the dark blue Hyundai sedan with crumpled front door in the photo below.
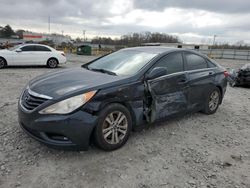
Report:
<svg viewBox="0 0 250 188"><path fill-rule="evenodd" d="M166 47L122 49L80 68L31 80L19 123L55 148L111 151L142 125L189 112L216 112L228 73L200 53Z"/></svg>

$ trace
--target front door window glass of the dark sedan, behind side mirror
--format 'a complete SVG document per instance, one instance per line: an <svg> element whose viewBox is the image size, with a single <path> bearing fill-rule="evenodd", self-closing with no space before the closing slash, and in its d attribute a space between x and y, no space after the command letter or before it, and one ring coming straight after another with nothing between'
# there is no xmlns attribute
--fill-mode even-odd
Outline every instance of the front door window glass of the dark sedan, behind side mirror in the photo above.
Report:
<svg viewBox="0 0 250 188"><path fill-rule="evenodd" d="M165 67L168 74L183 71L183 59L181 53L171 53L161 58L155 67Z"/></svg>

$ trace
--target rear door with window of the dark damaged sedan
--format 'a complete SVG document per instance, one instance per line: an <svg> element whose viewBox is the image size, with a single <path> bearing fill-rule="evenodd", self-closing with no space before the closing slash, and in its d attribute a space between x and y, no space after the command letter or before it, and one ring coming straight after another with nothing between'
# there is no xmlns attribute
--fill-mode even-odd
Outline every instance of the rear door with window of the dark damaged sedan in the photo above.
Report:
<svg viewBox="0 0 250 188"><path fill-rule="evenodd" d="M215 69L204 57L191 52L184 53L184 60L189 78L188 109L202 109L207 93L214 87Z"/></svg>

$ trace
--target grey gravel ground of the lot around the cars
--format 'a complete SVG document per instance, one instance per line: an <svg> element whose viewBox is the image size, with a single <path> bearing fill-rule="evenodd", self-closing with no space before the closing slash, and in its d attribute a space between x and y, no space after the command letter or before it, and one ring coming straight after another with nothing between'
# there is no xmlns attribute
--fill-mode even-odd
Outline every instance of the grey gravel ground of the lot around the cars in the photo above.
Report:
<svg viewBox="0 0 250 188"><path fill-rule="evenodd" d="M92 57L68 59L59 69ZM228 87L216 114L190 114L134 132L117 151L69 152L36 142L18 126L22 88L49 71L55 70L0 70L0 187L250 187L249 88Z"/></svg>

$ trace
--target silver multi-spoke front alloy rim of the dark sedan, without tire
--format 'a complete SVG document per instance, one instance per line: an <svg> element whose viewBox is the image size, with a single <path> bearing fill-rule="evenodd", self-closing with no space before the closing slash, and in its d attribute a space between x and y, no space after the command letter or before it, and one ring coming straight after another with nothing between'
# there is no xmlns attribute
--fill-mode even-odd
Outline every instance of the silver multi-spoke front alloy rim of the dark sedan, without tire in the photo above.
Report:
<svg viewBox="0 0 250 188"><path fill-rule="evenodd" d="M122 142L127 131L128 120L124 113L114 111L106 116L102 126L102 133L107 143L118 144Z"/></svg>

